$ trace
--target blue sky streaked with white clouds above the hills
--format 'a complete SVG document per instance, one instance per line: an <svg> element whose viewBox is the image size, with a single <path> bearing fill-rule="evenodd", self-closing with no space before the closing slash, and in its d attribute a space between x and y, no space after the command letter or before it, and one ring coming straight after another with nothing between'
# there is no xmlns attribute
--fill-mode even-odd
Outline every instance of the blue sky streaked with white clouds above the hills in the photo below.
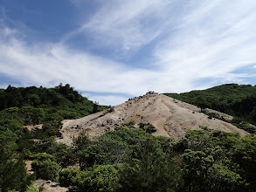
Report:
<svg viewBox="0 0 256 192"><path fill-rule="evenodd" d="M256 84L255 0L0 0L0 87L70 84L101 105Z"/></svg>

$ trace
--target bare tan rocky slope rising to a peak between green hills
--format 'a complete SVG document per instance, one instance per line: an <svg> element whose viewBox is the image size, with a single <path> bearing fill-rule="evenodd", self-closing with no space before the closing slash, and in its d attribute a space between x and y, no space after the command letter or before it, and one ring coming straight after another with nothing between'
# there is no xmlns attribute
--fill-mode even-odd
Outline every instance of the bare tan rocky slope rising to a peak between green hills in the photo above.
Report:
<svg viewBox="0 0 256 192"><path fill-rule="evenodd" d="M94 113L78 120L64 120L59 142L71 144L73 137L81 131L86 131L90 136L98 136L114 127L124 125L134 120L136 125L140 122L151 123L156 127L154 135L163 135L179 139L188 129L209 127L229 133L239 133L244 136L248 133L232 126L222 120L209 119L204 113L200 113L197 106L172 99L158 93L147 93L134 99L128 99L125 103L114 106L111 111Z"/></svg>

